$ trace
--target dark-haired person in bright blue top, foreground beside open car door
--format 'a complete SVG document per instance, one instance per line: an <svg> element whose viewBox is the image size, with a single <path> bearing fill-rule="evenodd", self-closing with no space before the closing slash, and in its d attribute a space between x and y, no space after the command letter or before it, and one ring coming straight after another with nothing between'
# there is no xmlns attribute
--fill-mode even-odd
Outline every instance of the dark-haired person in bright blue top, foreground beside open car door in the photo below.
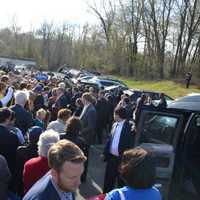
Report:
<svg viewBox="0 0 200 200"><path fill-rule="evenodd" d="M161 200L155 184L155 159L152 153L137 147L124 152L120 174L125 187L108 193L106 200Z"/></svg>

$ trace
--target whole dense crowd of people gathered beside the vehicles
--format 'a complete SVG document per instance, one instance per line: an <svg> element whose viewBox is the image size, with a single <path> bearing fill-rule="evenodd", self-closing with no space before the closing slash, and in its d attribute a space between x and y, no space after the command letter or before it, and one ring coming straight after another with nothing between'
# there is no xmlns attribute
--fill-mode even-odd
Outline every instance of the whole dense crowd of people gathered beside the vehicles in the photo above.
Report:
<svg viewBox="0 0 200 200"><path fill-rule="evenodd" d="M153 155L133 149L147 100L142 95L134 107L128 95L104 88L38 81L35 72L1 75L0 199L75 199L90 146L103 144L107 199L160 200ZM166 107L162 95L159 107Z"/></svg>

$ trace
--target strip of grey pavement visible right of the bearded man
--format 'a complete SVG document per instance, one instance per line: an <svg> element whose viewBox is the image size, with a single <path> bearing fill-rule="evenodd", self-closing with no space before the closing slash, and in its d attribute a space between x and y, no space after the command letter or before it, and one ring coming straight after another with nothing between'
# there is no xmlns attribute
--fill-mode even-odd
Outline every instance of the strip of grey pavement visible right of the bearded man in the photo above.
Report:
<svg viewBox="0 0 200 200"><path fill-rule="evenodd" d="M103 146L91 146L87 181L82 183L77 192L77 199L82 200L102 193L105 163L100 159Z"/></svg>

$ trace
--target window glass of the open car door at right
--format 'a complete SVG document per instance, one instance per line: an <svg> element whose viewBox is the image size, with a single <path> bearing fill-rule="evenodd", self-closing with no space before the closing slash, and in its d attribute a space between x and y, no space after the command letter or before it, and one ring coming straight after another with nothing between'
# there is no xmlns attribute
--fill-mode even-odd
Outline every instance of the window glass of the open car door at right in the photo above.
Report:
<svg viewBox="0 0 200 200"><path fill-rule="evenodd" d="M145 116L140 143L172 144L177 117L149 113Z"/></svg>

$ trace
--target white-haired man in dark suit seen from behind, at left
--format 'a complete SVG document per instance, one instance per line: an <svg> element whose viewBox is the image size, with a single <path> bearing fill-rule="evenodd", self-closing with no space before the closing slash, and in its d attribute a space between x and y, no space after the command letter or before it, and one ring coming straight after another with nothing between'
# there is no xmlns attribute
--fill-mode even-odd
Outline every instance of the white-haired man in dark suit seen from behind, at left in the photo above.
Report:
<svg viewBox="0 0 200 200"><path fill-rule="evenodd" d="M10 107L15 112L15 125L22 131L23 135L33 125L32 114L24 108L27 101L27 93L19 91L15 96L15 105Z"/></svg>

